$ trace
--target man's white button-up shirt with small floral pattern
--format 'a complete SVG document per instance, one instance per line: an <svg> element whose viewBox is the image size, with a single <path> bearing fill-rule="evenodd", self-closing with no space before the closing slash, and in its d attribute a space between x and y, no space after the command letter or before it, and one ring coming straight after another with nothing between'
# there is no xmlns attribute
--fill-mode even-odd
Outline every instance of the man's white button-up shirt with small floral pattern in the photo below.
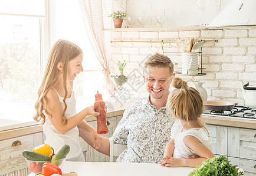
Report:
<svg viewBox="0 0 256 176"><path fill-rule="evenodd" d="M159 163L175 118L149 102L149 96L130 104L111 137L116 144L127 144L117 162Z"/></svg>

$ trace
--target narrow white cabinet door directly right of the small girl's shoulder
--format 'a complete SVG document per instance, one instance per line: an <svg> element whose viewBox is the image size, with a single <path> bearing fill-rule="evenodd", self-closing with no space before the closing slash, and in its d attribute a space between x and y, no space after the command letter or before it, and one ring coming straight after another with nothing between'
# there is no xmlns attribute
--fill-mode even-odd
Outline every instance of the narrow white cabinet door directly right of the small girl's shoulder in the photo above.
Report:
<svg viewBox="0 0 256 176"><path fill-rule="evenodd" d="M228 155L228 127L206 125L212 141L212 153Z"/></svg>

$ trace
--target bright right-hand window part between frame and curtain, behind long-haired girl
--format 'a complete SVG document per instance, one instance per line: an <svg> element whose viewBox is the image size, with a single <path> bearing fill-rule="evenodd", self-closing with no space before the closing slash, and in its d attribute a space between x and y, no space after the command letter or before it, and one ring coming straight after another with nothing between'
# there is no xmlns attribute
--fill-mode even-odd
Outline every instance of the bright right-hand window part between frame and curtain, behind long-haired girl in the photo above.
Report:
<svg viewBox="0 0 256 176"><path fill-rule="evenodd" d="M54 2L51 1L52 11L54 11L51 16L51 26L54 30L52 31L52 40L54 42L58 39L70 40L83 50L84 72L74 80L77 111L80 111L86 106L93 105L94 94L97 93L97 90L104 93L102 67L87 39L78 1L55 0Z"/></svg>

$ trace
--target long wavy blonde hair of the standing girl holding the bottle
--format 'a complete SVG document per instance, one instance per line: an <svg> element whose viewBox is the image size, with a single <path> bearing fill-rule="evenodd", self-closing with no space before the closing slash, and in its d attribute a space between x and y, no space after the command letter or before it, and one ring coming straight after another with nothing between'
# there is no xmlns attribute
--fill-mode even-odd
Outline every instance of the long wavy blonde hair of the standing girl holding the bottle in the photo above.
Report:
<svg viewBox="0 0 256 176"><path fill-rule="evenodd" d="M71 43L67 40L57 40L52 46L50 54L48 56L47 66L45 68L44 77L42 79L42 83L40 88L38 89L38 99L35 103L35 110L37 113L34 115L34 120L41 124L45 123L45 116L42 113L45 110L45 113L51 116L51 114L46 110L48 105L48 99L46 97L47 92L57 83L58 77L63 73L63 87L65 90L65 96L63 102L65 104L63 110L63 124L67 123L67 117L65 116L65 111L67 110L67 103L65 100L67 99L67 64L70 60L74 59L78 55L82 53L82 50L79 46ZM63 70L60 71L57 68L58 63L63 63ZM45 100L45 107L44 107Z"/></svg>

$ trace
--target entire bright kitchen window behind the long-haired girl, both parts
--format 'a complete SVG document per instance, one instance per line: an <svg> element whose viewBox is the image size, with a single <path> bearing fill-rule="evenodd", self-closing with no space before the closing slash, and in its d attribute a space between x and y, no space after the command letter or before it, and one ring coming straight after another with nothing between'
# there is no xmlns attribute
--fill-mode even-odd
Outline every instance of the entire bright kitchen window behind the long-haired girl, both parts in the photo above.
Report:
<svg viewBox="0 0 256 176"><path fill-rule="evenodd" d="M77 111L93 105L104 79L77 1L1 0L0 22L0 131L10 124L35 124L37 90L48 52L58 39L76 43L84 53L84 72L74 82Z"/></svg>

